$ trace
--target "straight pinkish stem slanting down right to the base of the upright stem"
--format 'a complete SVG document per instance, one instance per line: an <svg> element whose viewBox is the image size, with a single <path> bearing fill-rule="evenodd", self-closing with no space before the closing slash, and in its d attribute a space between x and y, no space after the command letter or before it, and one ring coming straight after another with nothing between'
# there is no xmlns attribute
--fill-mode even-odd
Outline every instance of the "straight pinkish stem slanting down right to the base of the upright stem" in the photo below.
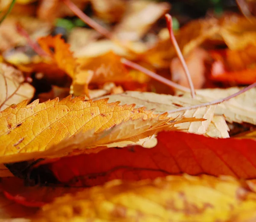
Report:
<svg viewBox="0 0 256 222"><path fill-rule="evenodd" d="M136 70L138 70L140 72L145 73L146 75L150 76L151 78L153 78L153 79L155 79L155 80L157 80L157 81L159 81L161 83L164 83L164 84L166 84L168 86L171 86L171 87L174 87L176 89L179 89L179 90L181 90L183 92L190 92L189 88L187 88L185 86L181 86L181 85L179 85L179 84L177 84L175 82L172 82L169 79L164 78L163 76L157 75L156 73L154 73L154 72L144 68L143 66L140 66L137 63L129 61L129 60L125 59L125 58L121 58L121 62L123 64L125 64L126 66L129 66L129 67L131 67L133 69L136 69Z"/></svg>

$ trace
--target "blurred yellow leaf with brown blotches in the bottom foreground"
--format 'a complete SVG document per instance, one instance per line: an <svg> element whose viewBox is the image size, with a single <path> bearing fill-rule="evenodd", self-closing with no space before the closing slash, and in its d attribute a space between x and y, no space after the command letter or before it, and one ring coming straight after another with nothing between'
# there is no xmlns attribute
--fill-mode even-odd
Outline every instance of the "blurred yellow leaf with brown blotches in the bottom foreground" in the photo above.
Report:
<svg viewBox="0 0 256 222"><path fill-rule="evenodd" d="M256 194L232 178L167 176L122 182L65 195L39 212L35 222L215 222L255 216Z"/></svg>

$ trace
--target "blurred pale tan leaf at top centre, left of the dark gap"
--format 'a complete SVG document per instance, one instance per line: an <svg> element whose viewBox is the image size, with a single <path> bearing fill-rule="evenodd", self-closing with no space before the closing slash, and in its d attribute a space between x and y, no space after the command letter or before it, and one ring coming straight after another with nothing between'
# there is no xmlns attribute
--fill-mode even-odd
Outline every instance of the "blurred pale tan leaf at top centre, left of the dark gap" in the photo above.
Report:
<svg viewBox="0 0 256 222"><path fill-rule="evenodd" d="M115 27L114 36L119 40L140 40L150 26L168 10L168 3L131 0L128 2L126 14Z"/></svg>

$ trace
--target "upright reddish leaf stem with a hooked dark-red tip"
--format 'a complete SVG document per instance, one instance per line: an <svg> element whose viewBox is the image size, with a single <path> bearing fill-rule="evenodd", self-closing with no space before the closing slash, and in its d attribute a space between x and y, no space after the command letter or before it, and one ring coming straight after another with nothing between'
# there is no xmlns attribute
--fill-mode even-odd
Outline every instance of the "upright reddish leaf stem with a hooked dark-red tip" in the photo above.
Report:
<svg viewBox="0 0 256 222"><path fill-rule="evenodd" d="M191 90L191 96L192 96L192 98L195 98L195 87L193 85L193 82L192 82L192 79L191 79L191 75L189 73L188 66L186 65L186 62L185 62L185 60L183 58L183 55L182 55L182 53L180 51L180 47L178 46L178 43L176 41L175 35L173 33L173 30L172 30L172 16L169 15L169 14L166 14L165 17L166 17L167 28L168 28L169 34L170 34L170 40L171 40L171 42L172 42L172 44L173 44L173 46L175 48L177 56L178 56L178 58L179 58L179 60L180 60L180 62L182 64L182 67L183 67L184 72L186 74L186 78L187 78L187 80L189 82L189 87L190 87L190 90Z"/></svg>

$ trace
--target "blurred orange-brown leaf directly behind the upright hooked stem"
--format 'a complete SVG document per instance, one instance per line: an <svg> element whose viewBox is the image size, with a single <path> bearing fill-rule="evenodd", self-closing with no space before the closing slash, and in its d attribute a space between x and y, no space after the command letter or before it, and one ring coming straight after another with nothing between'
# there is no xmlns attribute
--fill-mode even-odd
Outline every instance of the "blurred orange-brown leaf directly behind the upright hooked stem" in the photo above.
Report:
<svg viewBox="0 0 256 222"><path fill-rule="evenodd" d="M189 53L189 55L185 57L185 61L188 66L195 89L201 89L204 85L204 74L206 71L204 62L207 57L207 52L200 48L195 48L192 50L192 52ZM177 57L172 60L170 70L172 73L172 81L177 82L182 86L189 87L186 73L184 72L183 66Z"/></svg>

